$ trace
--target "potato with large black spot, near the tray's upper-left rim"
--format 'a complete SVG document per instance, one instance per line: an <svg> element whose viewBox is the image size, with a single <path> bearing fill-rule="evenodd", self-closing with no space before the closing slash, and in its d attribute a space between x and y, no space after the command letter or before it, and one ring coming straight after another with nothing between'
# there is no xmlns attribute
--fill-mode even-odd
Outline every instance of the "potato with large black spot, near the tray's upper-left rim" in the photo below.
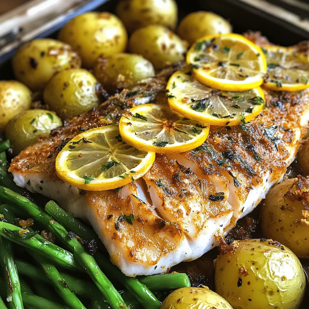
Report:
<svg viewBox="0 0 309 309"><path fill-rule="evenodd" d="M16 78L33 91L43 90L57 72L79 68L80 57L70 45L53 39L24 44L12 60Z"/></svg>

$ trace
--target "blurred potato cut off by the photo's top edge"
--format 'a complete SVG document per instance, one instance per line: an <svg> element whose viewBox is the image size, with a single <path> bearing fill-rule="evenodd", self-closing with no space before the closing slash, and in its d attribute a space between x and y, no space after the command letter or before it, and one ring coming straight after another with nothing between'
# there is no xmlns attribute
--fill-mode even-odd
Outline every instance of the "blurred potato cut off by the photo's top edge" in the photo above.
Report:
<svg viewBox="0 0 309 309"><path fill-rule="evenodd" d="M162 25L175 30L178 8L175 0L122 0L116 14L131 33L149 25Z"/></svg>

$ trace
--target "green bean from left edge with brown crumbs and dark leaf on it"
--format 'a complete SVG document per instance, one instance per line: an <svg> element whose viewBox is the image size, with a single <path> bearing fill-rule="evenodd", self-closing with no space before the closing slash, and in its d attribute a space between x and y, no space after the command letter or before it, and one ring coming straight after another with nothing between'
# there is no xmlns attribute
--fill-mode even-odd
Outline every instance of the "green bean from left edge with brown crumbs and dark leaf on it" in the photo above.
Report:
<svg viewBox="0 0 309 309"><path fill-rule="evenodd" d="M23 230L13 224L0 221L0 236L28 249L34 250L35 252L44 253L49 260L64 268L79 269L79 265L75 262L72 253L56 246L38 234L27 239L20 234L26 231L27 230Z"/></svg>

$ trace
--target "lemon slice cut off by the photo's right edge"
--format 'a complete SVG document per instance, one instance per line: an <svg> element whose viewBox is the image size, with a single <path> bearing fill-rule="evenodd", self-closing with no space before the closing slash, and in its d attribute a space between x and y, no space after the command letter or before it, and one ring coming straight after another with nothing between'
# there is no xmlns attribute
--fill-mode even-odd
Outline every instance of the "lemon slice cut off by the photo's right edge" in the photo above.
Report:
<svg viewBox="0 0 309 309"><path fill-rule="evenodd" d="M264 87L274 91L298 91L309 87L309 55L291 48L263 48L267 61Z"/></svg>

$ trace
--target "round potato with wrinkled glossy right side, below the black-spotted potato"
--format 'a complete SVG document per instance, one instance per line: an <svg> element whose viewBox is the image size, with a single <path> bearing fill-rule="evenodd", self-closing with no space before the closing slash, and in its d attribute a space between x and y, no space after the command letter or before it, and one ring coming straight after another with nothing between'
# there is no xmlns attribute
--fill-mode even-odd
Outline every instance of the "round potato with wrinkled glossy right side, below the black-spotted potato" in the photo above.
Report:
<svg viewBox="0 0 309 309"><path fill-rule="evenodd" d="M98 107L96 78L87 70L71 69L56 74L44 89L45 104L62 119L74 116Z"/></svg>

